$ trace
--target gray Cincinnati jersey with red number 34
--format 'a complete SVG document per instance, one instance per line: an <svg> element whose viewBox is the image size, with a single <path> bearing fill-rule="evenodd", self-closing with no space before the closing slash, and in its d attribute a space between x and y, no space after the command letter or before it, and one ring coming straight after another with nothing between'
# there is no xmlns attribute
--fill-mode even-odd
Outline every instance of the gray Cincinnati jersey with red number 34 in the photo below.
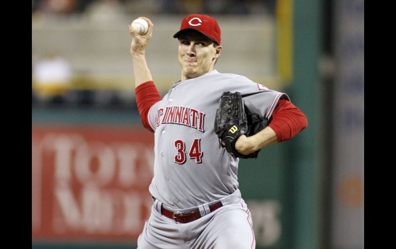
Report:
<svg viewBox="0 0 396 249"><path fill-rule="evenodd" d="M214 118L224 91L240 92L245 106L270 118L285 93L244 76L210 71L176 82L154 104L149 123L155 131L154 177L150 193L175 209L219 200L238 189L238 162L221 148Z"/></svg>

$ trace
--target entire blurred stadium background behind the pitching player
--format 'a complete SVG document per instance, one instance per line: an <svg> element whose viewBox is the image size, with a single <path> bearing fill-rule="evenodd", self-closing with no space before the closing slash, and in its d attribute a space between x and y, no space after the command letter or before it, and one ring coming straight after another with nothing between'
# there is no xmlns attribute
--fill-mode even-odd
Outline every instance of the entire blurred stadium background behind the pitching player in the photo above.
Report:
<svg viewBox="0 0 396 249"><path fill-rule="evenodd" d="M154 155L127 26L154 23L147 61L165 94L190 13L218 19L220 72L286 92L308 117L241 160L256 248L364 248L363 0L32 0L32 248L136 248Z"/></svg>

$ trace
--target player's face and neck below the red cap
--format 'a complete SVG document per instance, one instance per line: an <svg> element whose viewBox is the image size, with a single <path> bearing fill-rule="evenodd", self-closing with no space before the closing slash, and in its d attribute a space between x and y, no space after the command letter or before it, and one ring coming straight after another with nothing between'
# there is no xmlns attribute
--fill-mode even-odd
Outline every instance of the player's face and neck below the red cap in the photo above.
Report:
<svg viewBox="0 0 396 249"><path fill-rule="evenodd" d="M179 37L178 60L182 67L182 80L196 78L213 70L222 48L213 45L213 41L197 32L186 32Z"/></svg>

